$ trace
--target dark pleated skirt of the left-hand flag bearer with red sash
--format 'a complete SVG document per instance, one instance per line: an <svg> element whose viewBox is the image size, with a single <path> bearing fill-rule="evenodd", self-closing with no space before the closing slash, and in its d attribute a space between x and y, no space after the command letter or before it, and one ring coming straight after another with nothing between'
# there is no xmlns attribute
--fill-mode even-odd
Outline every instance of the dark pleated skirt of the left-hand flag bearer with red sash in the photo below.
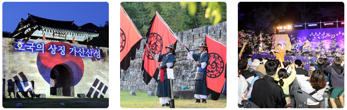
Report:
<svg viewBox="0 0 347 110"><path fill-rule="evenodd" d="M161 97L170 97L171 98L171 86L170 86L170 80L164 80L161 82L160 80L158 81L158 88L156 91L156 96L158 98Z"/></svg>

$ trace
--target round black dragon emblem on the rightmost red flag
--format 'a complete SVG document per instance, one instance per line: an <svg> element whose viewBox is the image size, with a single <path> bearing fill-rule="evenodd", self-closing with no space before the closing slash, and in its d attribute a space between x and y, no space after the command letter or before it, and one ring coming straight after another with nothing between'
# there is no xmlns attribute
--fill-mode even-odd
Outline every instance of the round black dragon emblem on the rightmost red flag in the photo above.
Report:
<svg viewBox="0 0 347 110"><path fill-rule="evenodd" d="M207 76L211 78L216 78L223 73L224 62L222 57L217 53L209 54L209 65L207 66Z"/></svg>

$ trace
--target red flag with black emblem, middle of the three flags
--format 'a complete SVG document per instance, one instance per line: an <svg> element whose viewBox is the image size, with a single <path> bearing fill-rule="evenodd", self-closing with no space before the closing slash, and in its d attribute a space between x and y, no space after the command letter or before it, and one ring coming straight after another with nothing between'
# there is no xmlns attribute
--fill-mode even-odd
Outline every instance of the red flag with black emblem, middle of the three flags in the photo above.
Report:
<svg viewBox="0 0 347 110"><path fill-rule="evenodd" d="M172 33L170 27L156 12L150 22L150 27L147 29L146 37L148 38L146 44L152 49L154 54L166 54L166 46L174 45L176 49L177 37ZM159 69L157 68L156 61L150 52L147 52L147 46L144 46L144 54L142 61L143 81L148 84L152 77L158 82ZM158 62L160 65L160 62Z"/></svg>

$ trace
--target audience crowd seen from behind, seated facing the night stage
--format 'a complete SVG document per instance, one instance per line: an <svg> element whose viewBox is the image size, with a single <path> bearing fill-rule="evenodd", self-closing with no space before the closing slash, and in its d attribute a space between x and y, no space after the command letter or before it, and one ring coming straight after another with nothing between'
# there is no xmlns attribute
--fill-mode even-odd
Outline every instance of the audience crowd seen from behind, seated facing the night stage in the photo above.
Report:
<svg viewBox="0 0 347 110"><path fill-rule="evenodd" d="M244 46L247 42L244 42ZM240 54L242 54L244 47ZM239 54L238 60L241 57ZM319 56L318 56L319 57ZM249 100L259 108L294 108L290 98L290 84L295 81L300 89L312 98L321 101L324 94L329 94L332 108L337 108L335 99L338 98L344 107L344 61L335 57L330 64L327 58L313 61L313 68L305 70L300 59L294 64L287 62L283 65L280 58L257 58L252 62L251 57L238 61L238 104ZM263 77L255 77L260 72ZM253 81L253 82L252 82ZM331 87L331 92L327 87ZM246 96L247 94L247 96ZM309 96L308 95L308 96ZM248 97L249 96L249 97ZM250 97L251 96L251 97ZM248 97L248 98L247 98ZM308 108L321 108L322 102L307 99Z"/></svg>

